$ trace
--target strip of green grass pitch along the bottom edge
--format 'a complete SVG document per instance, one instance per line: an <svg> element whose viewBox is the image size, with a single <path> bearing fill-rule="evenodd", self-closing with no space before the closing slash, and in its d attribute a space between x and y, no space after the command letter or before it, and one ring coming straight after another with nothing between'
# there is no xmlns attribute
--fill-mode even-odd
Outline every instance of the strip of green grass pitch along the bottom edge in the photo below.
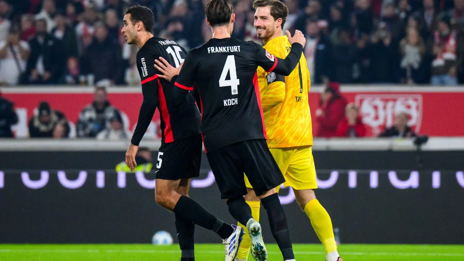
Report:
<svg viewBox="0 0 464 261"><path fill-rule="evenodd" d="M268 244L269 261L282 261L277 245ZM294 244L296 261L324 261L322 245ZM464 261L464 245L358 245L338 248L344 261ZM220 244L195 245L196 261L222 261ZM148 244L10 245L0 244L0 261L179 261L179 246ZM250 261L253 259L249 257Z"/></svg>

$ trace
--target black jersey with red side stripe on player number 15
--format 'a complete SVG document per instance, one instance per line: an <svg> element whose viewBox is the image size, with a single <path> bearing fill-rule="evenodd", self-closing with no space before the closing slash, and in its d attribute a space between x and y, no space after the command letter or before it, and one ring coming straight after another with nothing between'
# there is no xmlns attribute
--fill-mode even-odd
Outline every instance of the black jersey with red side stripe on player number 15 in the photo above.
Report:
<svg viewBox="0 0 464 261"><path fill-rule="evenodd" d="M131 143L138 145L147 131L155 109L160 111L161 144L200 134L200 111L193 94L188 93L182 104L174 104L174 86L155 68L155 59L163 57L170 65L179 67L187 52L172 40L153 37L137 52L137 67L142 79L143 102Z"/></svg>

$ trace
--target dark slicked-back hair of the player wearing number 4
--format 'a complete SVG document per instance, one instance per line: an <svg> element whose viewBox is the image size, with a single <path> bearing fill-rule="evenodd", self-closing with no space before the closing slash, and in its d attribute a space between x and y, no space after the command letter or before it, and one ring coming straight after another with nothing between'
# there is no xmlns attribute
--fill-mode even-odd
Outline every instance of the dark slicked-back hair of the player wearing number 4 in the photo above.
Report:
<svg viewBox="0 0 464 261"><path fill-rule="evenodd" d="M233 13L230 0L209 0L206 3L205 15L211 27L229 24Z"/></svg>

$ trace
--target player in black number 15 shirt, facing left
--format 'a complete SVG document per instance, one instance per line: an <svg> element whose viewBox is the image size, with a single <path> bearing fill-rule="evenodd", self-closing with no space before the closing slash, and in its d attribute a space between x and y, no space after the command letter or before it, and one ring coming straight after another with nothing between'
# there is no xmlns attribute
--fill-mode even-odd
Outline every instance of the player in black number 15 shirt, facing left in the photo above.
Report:
<svg viewBox="0 0 464 261"><path fill-rule="evenodd" d="M186 52L172 40L153 36L151 32L155 19L147 7L129 7L123 22L121 32L127 43L135 44L140 49L137 52L137 67L142 78L143 93L137 126L126 153L126 163L131 171L137 166L135 155L138 145L158 108L162 139L156 164L156 202L175 214L180 260L194 261L193 233L194 224L197 224L213 230L223 239L226 261L232 261L237 255L243 228L220 221L188 197L190 179L198 177L200 173L200 111L190 92L184 96L182 106L173 104L171 96L174 86L158 78L159 72L153 66L155 59L161 56L179 67Z"/></svg>

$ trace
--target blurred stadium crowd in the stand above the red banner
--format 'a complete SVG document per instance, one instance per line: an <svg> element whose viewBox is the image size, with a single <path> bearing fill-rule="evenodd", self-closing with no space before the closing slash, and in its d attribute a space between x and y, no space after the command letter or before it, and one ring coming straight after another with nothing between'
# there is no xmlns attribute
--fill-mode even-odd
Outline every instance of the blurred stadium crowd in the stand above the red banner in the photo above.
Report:
<svg viewBox="0 0 464 261"><path fill-rule="evenodd" d="M307 37L313 83L464 83L464 0L283 0L284 30ZM0 84L137 85L124 9L155 13L155 35L187 50L211 38L207 0L0 0ZM234 1L233 36L255 40L252 0Z"/></svg>

